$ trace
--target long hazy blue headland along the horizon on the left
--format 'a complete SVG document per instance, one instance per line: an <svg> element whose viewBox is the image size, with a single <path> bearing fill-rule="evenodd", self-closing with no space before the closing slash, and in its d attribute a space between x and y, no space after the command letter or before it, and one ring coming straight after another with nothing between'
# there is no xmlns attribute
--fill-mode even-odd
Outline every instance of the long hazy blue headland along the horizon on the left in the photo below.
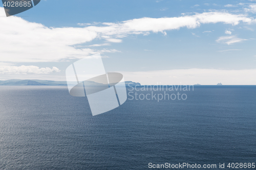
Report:
<svg viewBox="0 0 256 170"><path fill-rule="evenodd" d="M95 83L93 81L87 81L87 85L99 85L100 83ZM132 81L125 81L125 85L128 86L141 85L140 83L135 83ZM66 81L50 81L50 80L0 80L0 86L67 86Z"/></svg>

